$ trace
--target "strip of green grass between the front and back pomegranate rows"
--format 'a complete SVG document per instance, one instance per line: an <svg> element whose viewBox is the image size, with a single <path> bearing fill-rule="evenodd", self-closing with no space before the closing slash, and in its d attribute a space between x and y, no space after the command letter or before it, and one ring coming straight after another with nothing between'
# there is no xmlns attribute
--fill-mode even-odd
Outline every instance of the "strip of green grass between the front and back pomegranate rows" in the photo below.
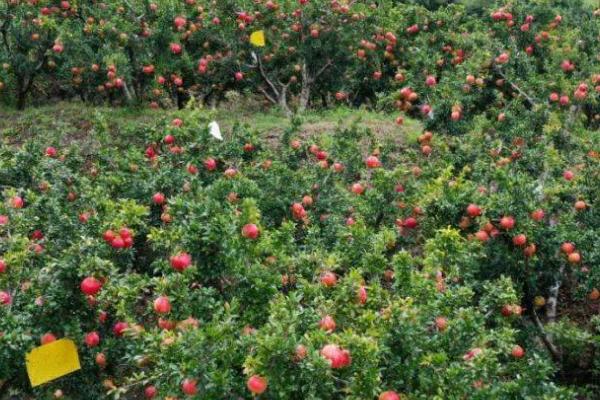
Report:
<svg viewBox="0 0 600 400"><path fill-rule="evenodd" d="M224 104L215 110L200 109L206 117L217 121L224 134L235 123L249 126L266 138L279 136L291 126L289 118L275 109L256 109L256 105ZM167 120L179 117L185 121L191 110L151 110L148 108L90 107L77 102L61 102L43 107L30 107L24 111L0 110L0 137L10 144L20 144L32 137L48 136L63 144L94 141L94 135L102 126L109 136L119 137L119 142L127 145L135 141L133 136L140 127L151 126L162 118ZM300 133L310 137L327 134L338 127L353 123L371 129L375 135L385 139L403 140L420 133L421 126L410 118L398 127L395 116L387 113L350 109L345 107L323 111L307 112L296 116L300 121ZM130 140L128 140L130 139Z"/></svg>

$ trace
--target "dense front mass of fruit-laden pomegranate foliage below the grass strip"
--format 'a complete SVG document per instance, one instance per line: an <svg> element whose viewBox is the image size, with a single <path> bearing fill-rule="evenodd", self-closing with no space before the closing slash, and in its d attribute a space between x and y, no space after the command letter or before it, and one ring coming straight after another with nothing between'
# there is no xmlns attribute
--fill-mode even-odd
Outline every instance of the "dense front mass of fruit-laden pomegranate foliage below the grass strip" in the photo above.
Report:
<svg viewBox="0 0 600 400"><path fill-rule="evenodd" d="M30 392L24 353L55 337L83 371L36 398L250 397L253 375L263 398L574 398L598 378L589 136L292 127L273 149L207 123L2 148L5 391Z"/></svg>

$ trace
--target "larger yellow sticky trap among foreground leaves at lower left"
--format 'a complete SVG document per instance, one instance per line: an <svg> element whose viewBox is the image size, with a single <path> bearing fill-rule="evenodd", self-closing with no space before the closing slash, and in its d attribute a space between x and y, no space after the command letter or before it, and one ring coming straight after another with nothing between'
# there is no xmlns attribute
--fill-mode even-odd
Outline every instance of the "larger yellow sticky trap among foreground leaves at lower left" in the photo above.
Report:
<svg viewBox="0 0 600 400"><path fill-rule="evenodd" d="M69 339L56 340L36 347L25 356L25 360L31 387L81 369L77 347Z"/></svg>

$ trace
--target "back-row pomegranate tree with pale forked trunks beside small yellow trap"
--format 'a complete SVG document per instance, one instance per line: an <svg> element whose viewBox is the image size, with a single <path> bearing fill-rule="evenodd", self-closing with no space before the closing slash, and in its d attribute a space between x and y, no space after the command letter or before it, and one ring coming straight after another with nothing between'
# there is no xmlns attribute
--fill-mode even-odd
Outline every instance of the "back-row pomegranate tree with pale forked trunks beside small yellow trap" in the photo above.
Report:
<svg viewBox="0 0 600 400"><path fill-rule="evenodd" d="M298 96L297 111L306 110L317 87L343 79L349 46L370 29L369 3L257 2L253 28L264 30L266 46L250 49L247 64L257 91L286 113Z"/></svg>

